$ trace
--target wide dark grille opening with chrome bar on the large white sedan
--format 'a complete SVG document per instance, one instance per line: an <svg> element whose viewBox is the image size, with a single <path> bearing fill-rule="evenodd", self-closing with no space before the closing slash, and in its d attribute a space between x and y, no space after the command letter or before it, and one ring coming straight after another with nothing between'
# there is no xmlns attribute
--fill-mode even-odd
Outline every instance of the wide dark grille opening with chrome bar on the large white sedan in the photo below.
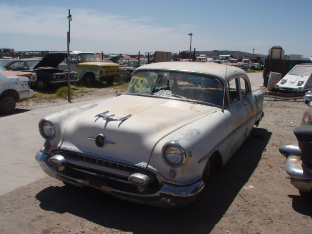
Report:
<svg viewBox="0 0 312 234"><path fill-rule="evenodd" d="M104 159L96 156L77 154L71 151L57 152L65 158L64 165L53 166L58 173L64 176L69 176L74 179L89 181L90 185L98 184L107 188L112 188L119 191L137 193L137 194L153 194L155 193L161 181L157 176L148 170L117 162L114 160ZM148 175L152 183L149 184L144 191L141 191L137 185L129 182L128 178L134 173Z"/></svg>

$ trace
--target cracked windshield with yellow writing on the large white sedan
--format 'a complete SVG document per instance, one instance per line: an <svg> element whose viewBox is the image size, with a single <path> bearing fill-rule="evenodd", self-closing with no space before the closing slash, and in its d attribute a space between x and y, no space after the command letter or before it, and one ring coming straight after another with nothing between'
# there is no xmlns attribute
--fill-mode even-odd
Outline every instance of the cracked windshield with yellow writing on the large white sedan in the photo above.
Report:
<svg viewBox="0 0 312 234"><path fill-rule="evenodd" d="M140 70L129 84L127 94L154 95L205 102L218 106L223 103L224 83L211 75L191 72Z"/></svg>

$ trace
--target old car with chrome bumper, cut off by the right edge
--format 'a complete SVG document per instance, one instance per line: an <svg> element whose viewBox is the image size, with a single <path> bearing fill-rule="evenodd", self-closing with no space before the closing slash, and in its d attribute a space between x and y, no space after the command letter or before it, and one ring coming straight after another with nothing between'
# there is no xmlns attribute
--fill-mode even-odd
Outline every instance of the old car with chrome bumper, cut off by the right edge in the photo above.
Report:
<svg viewBox="0 0 312 234"><path fill-rule="evenodd" d="M312 92L304 98L310 108L303 113L301 126L293 130L298 144L284 145L279 152L286 157L285 169L292 185L302 195L312 195Z"/></svg>

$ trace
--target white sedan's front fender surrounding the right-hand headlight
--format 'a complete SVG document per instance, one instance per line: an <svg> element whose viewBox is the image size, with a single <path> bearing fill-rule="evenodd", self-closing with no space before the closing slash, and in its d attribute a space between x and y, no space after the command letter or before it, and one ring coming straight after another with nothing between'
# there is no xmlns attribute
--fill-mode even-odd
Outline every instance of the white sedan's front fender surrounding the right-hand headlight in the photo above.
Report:
<svg viewBox="0 0 312 234"><path fill-rule="evenodd" d="M193 183L202 176L208 158L215 150L220 150L222 160L226 161L230 149L226 139L231 131L232 126L221 111L197 119L159 140L148 168L171 183ZM170 141L176 142L185 150L186 157L179 167L172 167L162 156L162 147ZM176 173L175 177L172 177L172 170Z"/></svg>

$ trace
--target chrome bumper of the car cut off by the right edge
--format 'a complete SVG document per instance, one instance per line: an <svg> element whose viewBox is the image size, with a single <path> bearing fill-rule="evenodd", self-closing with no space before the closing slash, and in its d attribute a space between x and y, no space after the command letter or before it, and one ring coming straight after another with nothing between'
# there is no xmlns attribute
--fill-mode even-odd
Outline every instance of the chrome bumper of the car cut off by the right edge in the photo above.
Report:
<svg viewBox="0 0 312 234"><path fill-rule="evenodd" d="M292 185L301 192L310 193L312 191L312 169L302 163L298 145L285 145L279 148L279 151L287 157L285 169L291 176Z"/></svg>

